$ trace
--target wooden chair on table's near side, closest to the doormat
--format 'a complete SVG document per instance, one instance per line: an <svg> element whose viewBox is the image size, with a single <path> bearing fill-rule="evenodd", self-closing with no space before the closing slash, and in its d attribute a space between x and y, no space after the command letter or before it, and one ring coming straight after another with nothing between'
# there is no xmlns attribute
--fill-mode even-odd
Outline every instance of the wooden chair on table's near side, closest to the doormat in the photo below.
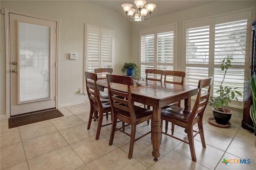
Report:
<svg viewBox="0 0 256 170"><path fill-rule="evenodd" d="M102 125L102 120L104 116L108 116L108 112L111 112L111 106L108 99L101 100L99 95L99 90L97 87L97 74L91 72L84 72L86 78L86 91L88 94L88 98L90 100L90 116L87 125L87 129L90 129L92 118L98 121L98 127L96 132L96 140L100 138L100 129L101 127L111 125L112 123L108 123L106 125ZM94 81L94 85L90 85L88 80ZM105 114L104 114L105 113Z"/></svg>

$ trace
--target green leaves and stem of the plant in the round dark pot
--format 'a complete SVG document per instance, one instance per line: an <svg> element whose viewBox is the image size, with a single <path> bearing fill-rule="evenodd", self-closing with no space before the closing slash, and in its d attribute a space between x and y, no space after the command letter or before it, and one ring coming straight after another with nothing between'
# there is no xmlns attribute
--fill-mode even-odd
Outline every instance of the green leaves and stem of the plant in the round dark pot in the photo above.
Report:
<svg viewBox="0 0 256 170"><path fill-rule="evenodd" d="M222 83L224 82L226 77L227 70L229 69L229 67L232 67L231 65L232 59L234 59L232 55L228 55L224 57L224 59L222 60L220 68L222 71L225 71L225 73L224 73L222 82L220 83L220 89L216 91L216 93L218 93L218 96L217 97L211 96L209 100L210 106L213 106L217 110L222 107L223 112L225 112L225 106L228 106L228 103L231 103L232 99L233 100L235 99L236 101L238 101L236 94L242 96L242 94L239 91L235 90L238 87L235 87L232 89L232 87L222 86Z"/></svg>

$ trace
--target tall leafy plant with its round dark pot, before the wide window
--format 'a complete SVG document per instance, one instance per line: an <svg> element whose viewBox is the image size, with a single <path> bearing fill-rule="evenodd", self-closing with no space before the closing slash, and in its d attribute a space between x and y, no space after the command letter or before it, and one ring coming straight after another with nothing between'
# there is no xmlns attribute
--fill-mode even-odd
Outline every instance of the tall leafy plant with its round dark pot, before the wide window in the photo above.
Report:
<svg viewBox="0 0 256 170"><path fill-rule="evenodd" d="M234 59L232 55L228 55L223 58L220 68L222 71L225 71L225 72L224 72L222 82L220 83L220 87L216 91L216 93L218 93L218 96L217 97L211 96L209 100L210 106L213 106L212 110L213 110L214 119L216 123L220 125L227 125L233 113L232 111L230 111L229 109L226 109L225 107L228 106L228 103L231 103L232 99L235 99L236 101L238 101L238 98L236 97L235 94L240 96L242 95L239 91L235 90L238 87L232 88L228 86L222 86L226 77L227 70L229 69L229 67L232 67L231 65L232 59Z"/></svg>

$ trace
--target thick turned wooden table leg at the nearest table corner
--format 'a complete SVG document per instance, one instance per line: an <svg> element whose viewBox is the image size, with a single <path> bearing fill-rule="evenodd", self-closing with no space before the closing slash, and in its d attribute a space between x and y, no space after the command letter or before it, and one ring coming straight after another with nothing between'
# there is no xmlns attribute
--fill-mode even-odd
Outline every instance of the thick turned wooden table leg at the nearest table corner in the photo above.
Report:
<svg viewBox="0 0 256 170"><path fill-rule="evenodd" d="M154 161L158 161L160 156L160 138L161 138L161 109L153 107L153 118L152 118L152 145L153 151L152 156Z"/></svg>

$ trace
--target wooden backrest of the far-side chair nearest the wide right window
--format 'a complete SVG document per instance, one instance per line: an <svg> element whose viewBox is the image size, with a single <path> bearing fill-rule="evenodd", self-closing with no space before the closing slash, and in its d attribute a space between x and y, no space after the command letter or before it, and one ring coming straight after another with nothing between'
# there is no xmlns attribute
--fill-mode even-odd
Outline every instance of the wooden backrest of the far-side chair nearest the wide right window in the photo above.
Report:
<svg viewBox="0 0 256 170"><path fill-rule="evenodd" d="M184 71L164 70L164 83L184 85L185 76L186 76L186 72L184 72ZM170 81L168 79L169 77L172 77L172 81ZM175 77L177 77L177 79L181 79L181 80L180 81L174 81Z"/></svg>

